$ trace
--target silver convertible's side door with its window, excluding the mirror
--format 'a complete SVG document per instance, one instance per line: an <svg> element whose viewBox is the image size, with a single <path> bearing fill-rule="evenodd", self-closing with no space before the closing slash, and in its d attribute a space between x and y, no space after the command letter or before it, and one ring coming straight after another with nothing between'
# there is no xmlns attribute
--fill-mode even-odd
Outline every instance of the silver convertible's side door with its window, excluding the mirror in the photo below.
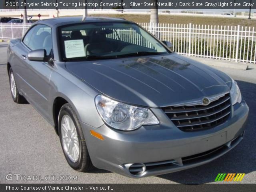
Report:
<svg viewBox="0 0 256 192"><path fill-rule="evenodd" d="M28 60L28 53L32 50L45 49L47 56L50 54L53 56L52 29L49 26L38 24L34 27L30 40L26 42L25 36L21 44L24 46L24 51L21 53L23 66L19 72L25 84L22 86L22 91L29 102L43 116L49 118L49 81L53 66L47 62Z"/></svg>

